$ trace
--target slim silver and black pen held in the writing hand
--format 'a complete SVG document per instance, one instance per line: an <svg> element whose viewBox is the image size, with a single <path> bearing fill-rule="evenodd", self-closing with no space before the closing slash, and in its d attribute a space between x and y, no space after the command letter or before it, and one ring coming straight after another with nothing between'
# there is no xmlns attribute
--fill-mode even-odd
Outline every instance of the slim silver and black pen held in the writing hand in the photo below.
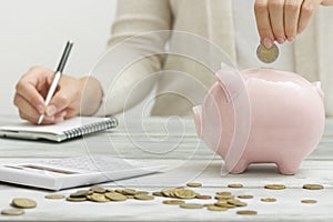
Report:
<svg viewBox="0 0 333 222"><path fill-rule="evenodd" d="M50 101L51 101L51 99L52 99L52 97L56 92L56 89L57 89L57 87L59 84L59 81L60 81L60 78L62 75L64 64L68 60L68 57L69 57L69 53L70 53L72 47L73 47L73 42L68 41L67 44L65 44L64 51L62 53L62 57L60 59L59 65L56 70L56 74L54 74L54 78L52 80L51 87L50 87L49 92L47 94L46 105L48 105L50 103ZM38 124L40 124L43 121L43 119L44 119L44 113L39 117Z"/></svg>

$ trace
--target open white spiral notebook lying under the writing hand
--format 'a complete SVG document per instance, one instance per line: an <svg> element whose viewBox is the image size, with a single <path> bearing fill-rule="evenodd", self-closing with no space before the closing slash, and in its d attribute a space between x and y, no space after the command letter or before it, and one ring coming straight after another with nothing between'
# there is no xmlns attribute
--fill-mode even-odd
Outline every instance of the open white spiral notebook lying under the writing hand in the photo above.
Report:
<svg viewBox="0 0 333 222"><path fill-rule="evenodd" d="M29 122L3 125L0 127L0 137L61 142L115 128L117 125L118 121L113 117L77 117L52 125L36 125Z"/></svg>

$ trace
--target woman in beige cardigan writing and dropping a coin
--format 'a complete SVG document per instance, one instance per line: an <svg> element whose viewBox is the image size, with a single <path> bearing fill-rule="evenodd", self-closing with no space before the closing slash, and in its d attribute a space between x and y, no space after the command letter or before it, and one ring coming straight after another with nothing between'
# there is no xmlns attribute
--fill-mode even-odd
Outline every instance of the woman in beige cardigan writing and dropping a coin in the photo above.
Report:
<svg viewBox="0 0 333 222"><path fill-rule="evenodd" d="M232 63L243 69L262 65L253 56L259 41L266 48L275 41L285 46L280 60L272 67L295 71L310 81L322 80L326 93L326 114L333 115L333 90L329 87L333 83L330 75L333 72L330 64L333 59L333 44L330 42L333 38L330 24L333 13L332 10L321 9L315 14L320 4L332 6L333 0L121 0L118 2L109 47L122 47L118 52L110 51L113 58L110 65L117 67L124 58L135 62L122 70L121 74L117 73L117 81L110 75L114 73L110 72L81 79L63 75L59 90L46 107L43 97L53 71L37 67L18 82L14 104L22 119L36 123L39 115L46 113L43 123L51 124L77 114L113 114L123 111L143 100L155 85L159 97L152 114L190 114L192 103L201 101L203 91L214 82L212 71L218 69L216 61L222 60L222 57L212 56L212 46L223 50ZM255 19L252 16L253 6ZM159 31L162 30L184 34L161 34ZM138 34L141 36L129 40ZM201 50L194 44L195 40L188 41L184 38L186 34L204 39L210 46ZM203 60L213 58L209 61L212 65L182 54L163 54L165 44L176 51L184 50L185 56L199 48L198 52L202 53L199 57ZM140 61L138 58L141 58ZM159 72L161 70L164 71ZM173 72L169 73L169 70ZM184 78L176 78L178 72ZM155 73L158 78L150 78ZM201 85L200 92L189 80ZM138 82L142 82L140 90ZM193 98L189 99L188 95Z"/></svg>

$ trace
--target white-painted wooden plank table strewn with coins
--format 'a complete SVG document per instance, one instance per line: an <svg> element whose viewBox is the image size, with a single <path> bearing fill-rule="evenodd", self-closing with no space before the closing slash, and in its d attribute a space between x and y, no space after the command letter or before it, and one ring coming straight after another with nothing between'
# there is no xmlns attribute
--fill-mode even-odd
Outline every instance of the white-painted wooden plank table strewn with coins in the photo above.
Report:
<svg viewBox="0 0 333 222"><path fill-rule="evenodd" d="M11 121L12 119L6 117L0 119L2 124ZM165 200L163 198L148 202L129 200L121 203L47 200L44 195L51 193L50 191L0 183L0 210L10 208L13 198L31 198L38 202L38 208L27 210L24 215L0 215L0 221L333 221L333 120L326 121L325 134L320 145L303 161L295 175L281 175L275 165L260 164L250 167L243 174L221 176L221 159L196 138L191 119L148 118L142 122L121 122L112 133L104 132L60 144L0 140L1 164L89 153L140 159L169 167L165 173L102 184L105 188L159 191L195 181L203 184L202 188L194 189L201 194L214 195L216 191L231 191L234 195L254 195L254 199L245 200L248 206L242 210L255 210L258 215L238 215L235 211L240 209L226 212L186 210L162 204ZM244 188L230 189L230 183L242 183ZM263 189L268 183L283 183L287 188ZM305 183L320 183L325 189L304 190L302 185ZM59 193L68 195L75 190L78 189ZM278 201L260 201L266 196L276 198ZM301 203L302 199L315 199L317 203L304 204Z"/></svg>

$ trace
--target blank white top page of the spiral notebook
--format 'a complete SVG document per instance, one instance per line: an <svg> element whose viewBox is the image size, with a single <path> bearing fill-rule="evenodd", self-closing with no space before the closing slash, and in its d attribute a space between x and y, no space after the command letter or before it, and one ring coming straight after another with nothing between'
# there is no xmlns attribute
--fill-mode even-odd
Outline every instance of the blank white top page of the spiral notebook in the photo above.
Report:
<svg viewBox="0 0 333 222"><path fill-rule="evenodd" d="M75 117L52 125L37 125L30 122L20 122L17 124L0 127L0 130L61 134L62 132L68 130L72 130L91 123L104 122L107 120L109 120L109 118Z"/></svg>

